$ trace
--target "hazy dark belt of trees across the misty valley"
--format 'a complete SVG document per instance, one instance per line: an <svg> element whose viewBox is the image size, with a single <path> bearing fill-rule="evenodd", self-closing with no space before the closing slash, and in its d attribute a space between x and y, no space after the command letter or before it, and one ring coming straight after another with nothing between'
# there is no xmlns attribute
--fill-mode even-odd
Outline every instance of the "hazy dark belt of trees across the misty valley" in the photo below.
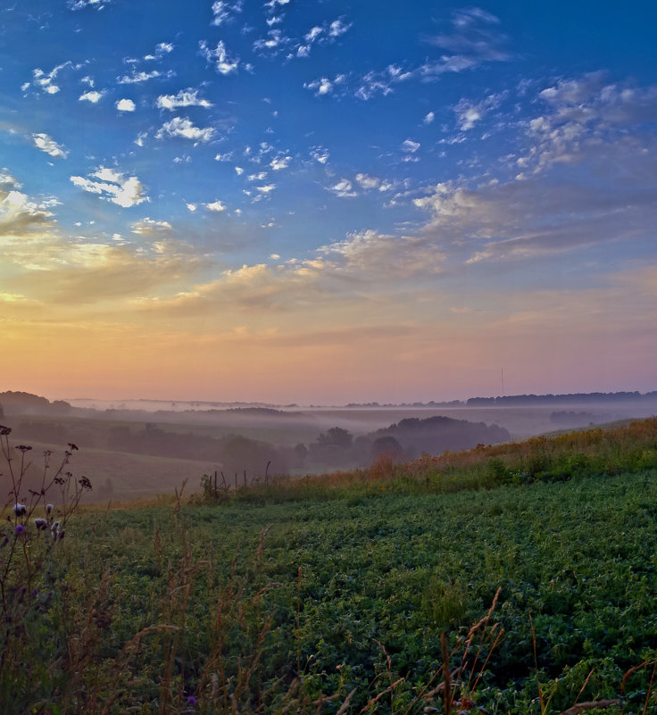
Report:
<svg viewBox="0 0 657 715"><path fill-rule="evenodd" d="M138 423L137 423L138 424ZM82 428L82 434L80 434ZM75 429L76 434L72 434ZM173 459L207 461L226 476L247 472L249 479L290 470L366 467L381 453L396 461L410 460L421 453L469 449L479 444L497 444L511 439L509 432L483 422L429 417L407 419L367 435L353 436L334 427L321 432L309 444L272 445L243 435L204 436L162 429L147 422L144 428L112 425L103 420L72 428L53 421L23 419L15 436L46 445L62 445L75 440L79 445L112 452L150 454ZM269 463L269 468L267 467Z"/></svg>

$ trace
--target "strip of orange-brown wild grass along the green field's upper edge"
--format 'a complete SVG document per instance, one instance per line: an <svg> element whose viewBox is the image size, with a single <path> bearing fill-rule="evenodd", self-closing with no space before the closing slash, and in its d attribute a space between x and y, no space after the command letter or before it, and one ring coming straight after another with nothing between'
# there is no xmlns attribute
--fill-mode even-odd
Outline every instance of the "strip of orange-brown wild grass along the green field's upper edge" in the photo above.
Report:
<svg viewBox="0 0 657 715"><path fill-rule="evenodd" d="M412 461L400 461L395 454L382 453L368 469L312 478L274 478L269 485L242 487L232 494L224 490L218 496L220 500L276 503L369 495L377 490L446 494L653 468L657 468L654 417L610 428L537 436L503 445L478 445L462 452L423 454ZM212 490L206 489L203 498L212 503Z"/></svg>

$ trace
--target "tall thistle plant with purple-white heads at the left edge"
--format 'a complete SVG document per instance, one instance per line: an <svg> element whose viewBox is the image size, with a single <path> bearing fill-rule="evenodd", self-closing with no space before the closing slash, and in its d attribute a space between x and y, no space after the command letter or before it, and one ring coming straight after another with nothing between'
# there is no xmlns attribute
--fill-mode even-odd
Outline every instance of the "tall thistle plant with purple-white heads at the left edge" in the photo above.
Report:
<svg viewBox="0 0 657 715"><path fill-rule="evenodd" d="M59 644L50 620L62 584L54 555L91 483L67 470L78 449L72 444L55 464L46 450L32 478L32 447L12 445L11 432L0 425L0 488L8 487L0 508L0 702L19 712L56 687L50 666Z"/></svg>

